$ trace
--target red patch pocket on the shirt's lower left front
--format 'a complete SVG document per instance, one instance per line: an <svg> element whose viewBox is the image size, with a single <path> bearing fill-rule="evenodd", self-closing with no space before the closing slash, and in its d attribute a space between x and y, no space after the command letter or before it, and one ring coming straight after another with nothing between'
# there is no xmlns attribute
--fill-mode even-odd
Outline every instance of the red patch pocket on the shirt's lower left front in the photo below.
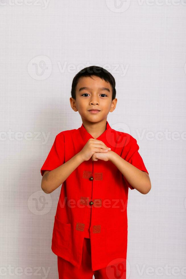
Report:
<svg viewBox="0 0 186 279"><path fill-rule="evenodd" d="M63 223L55 216L52 242L59 248L68 248L71 239L71 223Z"/></svg>

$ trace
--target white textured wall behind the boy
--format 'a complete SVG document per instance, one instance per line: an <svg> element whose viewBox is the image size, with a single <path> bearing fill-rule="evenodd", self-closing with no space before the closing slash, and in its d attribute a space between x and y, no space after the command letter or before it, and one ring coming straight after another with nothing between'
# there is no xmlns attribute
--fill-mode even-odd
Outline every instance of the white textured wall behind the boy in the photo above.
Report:
<svg viewBox="0 0 186 279"><path fill-rule="evenodd" d="M82 124L73 77L100 65L116 80L108 122L137 139L152 183L147 195L129 189L127 275L185 278L186 1L0 3L0 277L58 278L60 187L44 194L40 168L55 136Z"/></svg>

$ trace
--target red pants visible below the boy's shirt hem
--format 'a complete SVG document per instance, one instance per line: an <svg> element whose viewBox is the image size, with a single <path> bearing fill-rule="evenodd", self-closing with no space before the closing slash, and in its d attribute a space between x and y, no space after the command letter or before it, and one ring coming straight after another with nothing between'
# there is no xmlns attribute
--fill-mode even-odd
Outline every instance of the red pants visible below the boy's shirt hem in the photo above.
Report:
<svg viewBox="0 0 186 279"><path fill-rule="evenodd" d="M84 238L82 262L79 268L59 256L57 256L57 265L59 279L92 279L93 275L95 279L126 278L126 269L125 272L122 272L122 268L117 265L114 268L109 266L95 271L92 270L90 238Z"/></svg>

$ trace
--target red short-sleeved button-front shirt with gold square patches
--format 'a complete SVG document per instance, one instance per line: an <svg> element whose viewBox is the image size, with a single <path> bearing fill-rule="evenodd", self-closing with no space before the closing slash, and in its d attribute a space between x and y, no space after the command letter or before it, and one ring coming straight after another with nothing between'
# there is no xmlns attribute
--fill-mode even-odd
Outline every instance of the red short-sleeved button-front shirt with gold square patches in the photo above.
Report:
<svg viewBox="0 0 186 279"><path fill-rule="evenodd" d="M93 137L83 124L57 134L41 174L67 162L90 138ZM107 121L106 130L97 139L148 173L131 135L113 130ZM129 188L134 189L111 161L90 158L82 162L61 186L54 218L53 253L79 267L84 237L90 237L92 270L104 268L112 260L126 259Z"/></svg>

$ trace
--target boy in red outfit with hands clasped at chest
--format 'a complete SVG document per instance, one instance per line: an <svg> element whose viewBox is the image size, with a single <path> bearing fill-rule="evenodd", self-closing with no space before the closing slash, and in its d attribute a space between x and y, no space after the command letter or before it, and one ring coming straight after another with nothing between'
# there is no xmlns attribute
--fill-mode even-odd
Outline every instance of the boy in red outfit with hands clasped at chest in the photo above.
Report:
<svg viewBox="0 0 186 279"><path fill-rule="evenodd" d="M115 79L102 67L82 69L70 103L82 118L60 132L41 168L41 187L61 184L52 246L59 279L126 278L128 189L150 191L148 171L135 138L107 121L117 103ZM119 277L118 277L119 276Z"/></svg>

